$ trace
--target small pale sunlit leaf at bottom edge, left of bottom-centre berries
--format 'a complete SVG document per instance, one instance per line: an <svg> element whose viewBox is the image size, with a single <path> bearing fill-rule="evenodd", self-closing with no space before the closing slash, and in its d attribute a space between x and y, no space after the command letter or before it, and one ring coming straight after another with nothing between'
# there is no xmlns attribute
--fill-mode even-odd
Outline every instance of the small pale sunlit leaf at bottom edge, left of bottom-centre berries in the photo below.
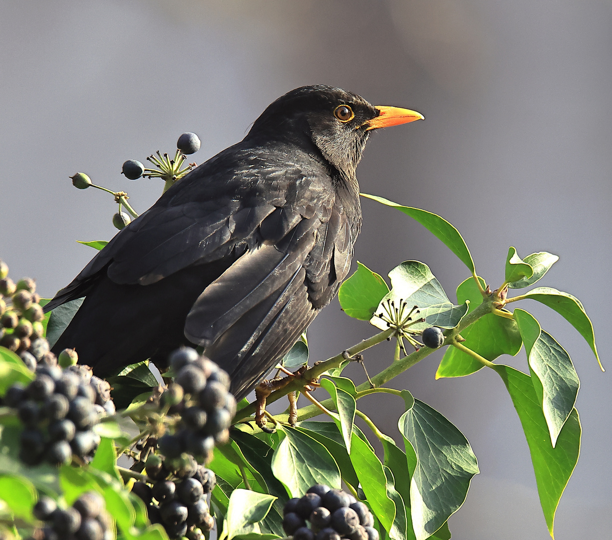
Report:
<svg viewBox="0 0 612 540"><path fill-rule="evenodd" d="M228 540L248 538L248 534L257 534L257 538L267 540L279 538L276 534L261 534L258 523L267 516L276 497L256 493L248 489L236 489L230 496L227 511Z"/></svg>

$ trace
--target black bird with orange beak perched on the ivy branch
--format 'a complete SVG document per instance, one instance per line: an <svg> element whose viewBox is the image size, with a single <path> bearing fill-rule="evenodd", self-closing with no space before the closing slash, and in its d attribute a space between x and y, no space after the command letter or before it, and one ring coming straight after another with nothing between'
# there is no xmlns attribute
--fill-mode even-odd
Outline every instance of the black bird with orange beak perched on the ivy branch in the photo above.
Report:
<svg viewBox="0 0 612 540"><path fill-rule="evenodd" d="M53 352L75 348L107 376L201 345L241 399L349 272L361 227L355 169L370 130L422 118L329 86L278 98L45 306L85 297Z"/></svg>

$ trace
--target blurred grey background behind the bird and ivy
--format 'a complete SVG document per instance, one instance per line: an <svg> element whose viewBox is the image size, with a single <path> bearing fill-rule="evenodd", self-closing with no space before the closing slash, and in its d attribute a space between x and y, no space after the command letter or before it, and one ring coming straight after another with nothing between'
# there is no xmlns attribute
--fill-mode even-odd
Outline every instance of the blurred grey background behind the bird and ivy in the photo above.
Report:
<svg viewBox="0 0 612 540"><path fill-rule="evenodd" d="M480 275L503 281L509 245L561 259L543 284L580 298L610 361L612 2L609 0L0 2L0 257L51 296L94 255L75 240L114 234L111 197L69 175L129 192L142 212L159 180L144 162L195 131L201 163L244 137L272 100L332 84L427 120L375 133L362 191L439 213L461 231ZM356 259L382 275L426 262L454 300L466 268L407 216L363 201ZM568 350L582 387L581 456L557 512L556 538L609 538L611 379L558 314L524 303ZM373 333L337 301L309 331L320 360ZM499 377L438 380L441 353L394 381L469 438L480 475L450 519L453 539L546 539L528 447ZM392 360L367 352L370 372ZM524 353L502 358L526 369ZM361 382L362 372L354 370ZM284 407L284 404L283 404ZM360 402L397 438L392 396Z"/></svg>

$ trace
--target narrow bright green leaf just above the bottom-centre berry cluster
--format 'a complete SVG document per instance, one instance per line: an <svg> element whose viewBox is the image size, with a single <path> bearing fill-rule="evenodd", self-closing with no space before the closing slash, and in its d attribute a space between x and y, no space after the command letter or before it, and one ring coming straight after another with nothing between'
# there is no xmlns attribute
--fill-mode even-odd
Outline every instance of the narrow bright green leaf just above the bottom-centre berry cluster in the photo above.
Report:
<svg viewBox="0 0 612 540"><path fill-rule="evenodd" d="M351 439L351 462L368 505L387 532L395 520L395 503L387 495L387 476L373 449L360 437Z"/></svg>

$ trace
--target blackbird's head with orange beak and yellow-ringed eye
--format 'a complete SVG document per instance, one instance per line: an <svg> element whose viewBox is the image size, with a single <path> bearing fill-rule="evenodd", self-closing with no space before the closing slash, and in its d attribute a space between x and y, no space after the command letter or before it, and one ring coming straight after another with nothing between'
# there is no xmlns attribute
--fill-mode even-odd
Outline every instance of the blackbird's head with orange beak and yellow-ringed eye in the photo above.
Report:
<svg viewBox="0 0 612 540"><path fill-rule="evenodd" d="M302 86L269 105L247 139L314 143L331 165L353 178L371 130L420 119L416 111L374 106L340 88Z"/></svg>

